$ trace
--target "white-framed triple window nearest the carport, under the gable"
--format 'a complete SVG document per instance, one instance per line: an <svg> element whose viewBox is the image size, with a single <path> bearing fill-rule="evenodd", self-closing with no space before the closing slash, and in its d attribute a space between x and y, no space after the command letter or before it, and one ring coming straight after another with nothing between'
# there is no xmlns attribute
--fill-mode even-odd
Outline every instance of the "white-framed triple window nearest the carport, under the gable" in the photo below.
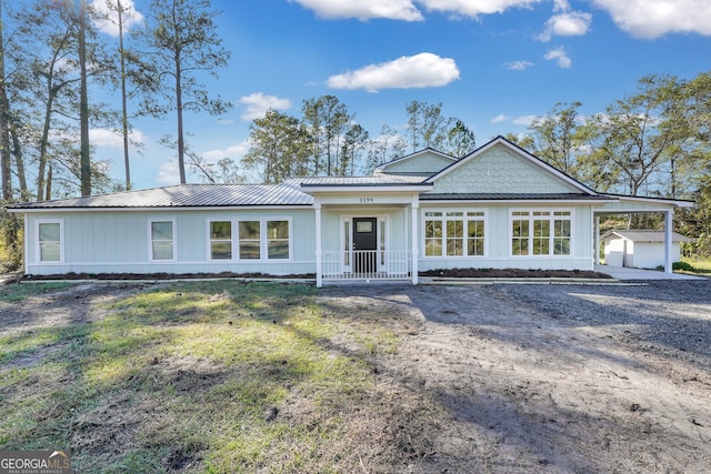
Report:
<svg viewBox="0 0 711 474"><path fill-rule="evenodd" d="M511 254L570 255L570 211L511 213Z"/></svg>

